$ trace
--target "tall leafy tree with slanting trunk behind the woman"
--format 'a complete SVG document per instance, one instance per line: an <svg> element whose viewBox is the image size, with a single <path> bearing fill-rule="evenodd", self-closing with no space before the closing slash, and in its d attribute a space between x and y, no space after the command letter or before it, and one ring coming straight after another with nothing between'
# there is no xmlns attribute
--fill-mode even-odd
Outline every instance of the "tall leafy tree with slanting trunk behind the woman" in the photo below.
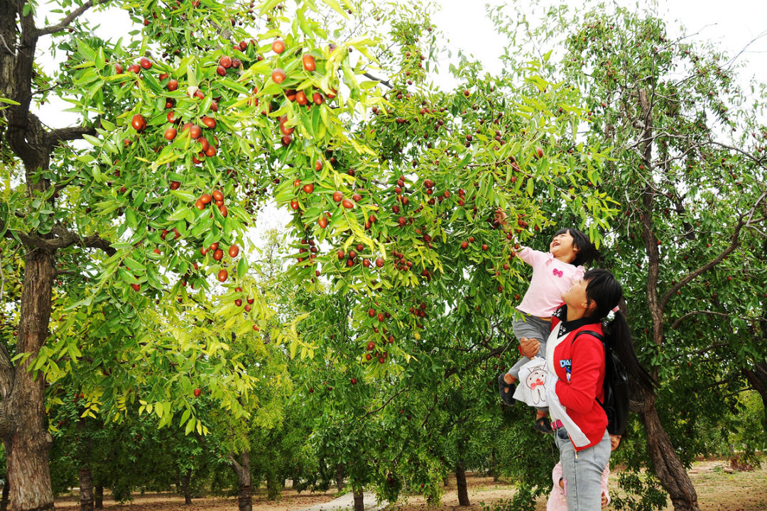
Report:
<svg viewBox="0 0 767 511"><path fill-rule="evenodd" d="M594 2L540 23L517 15L497 26L518 44L561 48L548 67L588 98L589 129L573 143L610 148L600 187L622 214L605 233L604 261L625 284L659 382L634 407L647 445L632 466L650 461L674 508L698 509L686 467L706 452L702 428L736 417L765 355L752 335L764 310L763 100L739 89L736 61L684 34L670 39L653 11ZM505 55L510 67L517 50ZM662 505L645 483L644 503L632 506Z"/></svg>

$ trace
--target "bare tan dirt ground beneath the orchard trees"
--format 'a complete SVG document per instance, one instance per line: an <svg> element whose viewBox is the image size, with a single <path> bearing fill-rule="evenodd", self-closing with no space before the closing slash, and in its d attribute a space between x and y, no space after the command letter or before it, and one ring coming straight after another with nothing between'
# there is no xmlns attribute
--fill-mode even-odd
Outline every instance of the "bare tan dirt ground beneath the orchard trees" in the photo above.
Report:
<svg viewBox="0 0 767 511"><path fill-rule="evenodd" d="M704 460L696 462L690 470L690 479L698 492L701 511L764 511L767 509L767 466L750 472L726 472L727 462ZM439 506L426 506L421 496L411 496L407 502L397 503L387 508L393 511L483 511L501 508L502 501L514 495L514 486L507 481L494 482L492 477L478 473L466 476L469 486L471 506L459 506L455 478L451 477ZM611 477L611 491L617 491L617 477ZM193 504L185 506L183 497L176 493L152 493L137 496L130 504L120 505L104 496L104 509L121 511L223 511L237 509L235 499L204 498L195 499ZM329 503L337 497L334 491L310 493L295 490L282 492L280 500L267 500L265 491L253 497L254 511L299 511L318 504ZM56 500L56 509L78 509L77 495L63 496ZM545 511L546 500L541 498L535 511ZM611 509L608 507L607 509ZM671 511L669 505L663 511Z"/></svg>

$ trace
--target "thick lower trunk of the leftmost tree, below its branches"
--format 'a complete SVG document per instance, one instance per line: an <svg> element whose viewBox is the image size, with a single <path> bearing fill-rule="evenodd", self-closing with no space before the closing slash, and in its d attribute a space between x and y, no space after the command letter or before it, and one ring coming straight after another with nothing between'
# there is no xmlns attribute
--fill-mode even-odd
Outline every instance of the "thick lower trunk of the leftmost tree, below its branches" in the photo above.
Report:
<svg viewBox="0 0 767 511"><path fill-rule="evenodd" d="M45 378L28 371L48 337L54 253L28 247L16 352L31 356L15 369L13 388L0 413L0 437L7 457L12 511L54 509L48 450L53 439L45 415Z"/></svg>

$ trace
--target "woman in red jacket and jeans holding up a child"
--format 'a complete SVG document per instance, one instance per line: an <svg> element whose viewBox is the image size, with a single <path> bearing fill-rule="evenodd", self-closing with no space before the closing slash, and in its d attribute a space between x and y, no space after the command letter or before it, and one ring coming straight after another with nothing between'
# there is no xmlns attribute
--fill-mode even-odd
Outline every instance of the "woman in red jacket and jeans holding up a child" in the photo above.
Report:
<svg viewBox="0 0 767 511"><path fill-rule="evenodd" d="M626 320L617 311L621 284L607 270L587 271L562 293L565 302L552 316L546 346L547 397L551 427L559 448L568 511L601 508L601 475L610 460L603 398L604 337L630 378L652 392L653 381L640 365ZM608 314L613 313L607 323Z"/></svg>

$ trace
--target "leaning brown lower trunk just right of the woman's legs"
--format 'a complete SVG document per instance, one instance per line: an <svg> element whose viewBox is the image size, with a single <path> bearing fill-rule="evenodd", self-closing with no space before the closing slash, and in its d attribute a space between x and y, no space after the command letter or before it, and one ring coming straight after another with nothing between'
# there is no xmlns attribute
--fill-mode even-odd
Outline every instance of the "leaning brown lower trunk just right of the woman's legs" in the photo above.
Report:
<svg viewBox="0 0 767 511"><path fill-rule="evenodd" d="M676 456L668 434L660 424L654 398L650 398L650 403L640 415L647 432L647 452L653 460L660 484L669 493L674 511L700 511L698 494L682 462Z"/></svg>

